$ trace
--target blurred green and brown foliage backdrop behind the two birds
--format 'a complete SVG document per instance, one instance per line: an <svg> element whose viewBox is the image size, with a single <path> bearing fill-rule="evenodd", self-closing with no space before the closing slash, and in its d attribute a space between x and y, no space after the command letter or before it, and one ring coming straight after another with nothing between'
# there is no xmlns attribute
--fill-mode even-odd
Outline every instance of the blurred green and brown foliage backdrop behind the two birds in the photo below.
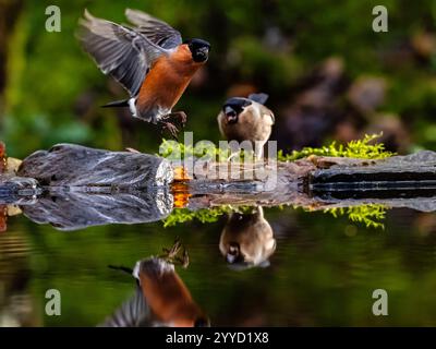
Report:
<svg viewBox="0 0 436 349"><path fill-rule="evenodd" d="M60 33L45 29L50 4L61 9ZM377 4L388 9L387 33L372 29ZM0 0L0 139L11 156L57 142L158 151L153 125L99 108L126 94L74 37L85 8L125 22L128 7L211 43L175 108L194 141L219 140L227 97L265 92L286 151L380 130L389 149L435 148L435 1Z"/></svg>

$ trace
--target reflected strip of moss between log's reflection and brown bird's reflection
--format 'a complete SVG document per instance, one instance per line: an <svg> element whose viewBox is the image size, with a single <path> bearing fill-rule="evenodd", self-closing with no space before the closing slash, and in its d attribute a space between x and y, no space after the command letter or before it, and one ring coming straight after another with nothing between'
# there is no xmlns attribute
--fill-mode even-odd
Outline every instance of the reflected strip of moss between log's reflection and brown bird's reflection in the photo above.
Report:
<svg viewBox="0 0 436 349"><path fill-rule="evenodd" d="M253 207L241 206L232 207L230 205L201 208L197 210L191 210L189 208L175 208L172 210L166 219L164 219L164 227L172 227L181 222L191 221L197 219L201 222L214 222L219 219L225 214L230 214L233 212L249 213Z"/></svg>

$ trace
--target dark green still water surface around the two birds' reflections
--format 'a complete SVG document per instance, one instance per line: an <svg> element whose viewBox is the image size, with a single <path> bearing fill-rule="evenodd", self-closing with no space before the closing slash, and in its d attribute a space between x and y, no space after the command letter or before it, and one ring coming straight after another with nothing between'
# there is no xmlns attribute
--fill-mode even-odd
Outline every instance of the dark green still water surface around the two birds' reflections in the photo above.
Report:
<svg viewBox="0 0 436 349"><path fill-rule="evenodd" d="M385 230L347 217L265 208L277 241L268 267L229 268L218 243L226 217L164 228L161 222L62 232L24 216L0 236L0 324L95 326L135 282L108 264L133 266L179 236L190 266L177 267L211 325L436 325L436 215L393 209ZM45 313L47 289L61 315ZM388 292L388 316L372 312Z"/></svg>

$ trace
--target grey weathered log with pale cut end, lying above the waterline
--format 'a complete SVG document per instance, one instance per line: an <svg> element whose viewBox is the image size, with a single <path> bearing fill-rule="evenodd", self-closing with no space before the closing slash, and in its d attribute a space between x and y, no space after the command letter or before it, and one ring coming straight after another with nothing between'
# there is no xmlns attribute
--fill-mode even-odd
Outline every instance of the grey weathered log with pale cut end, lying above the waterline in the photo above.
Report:
<svg viewBox="0 0 436 349"><path fill-rule="evenodd" d="M173 171L164 158L132 152L109 152L74 144L58 144L26 157L19 176L41 185L114 185L144 188L165 185Z"/></svg>

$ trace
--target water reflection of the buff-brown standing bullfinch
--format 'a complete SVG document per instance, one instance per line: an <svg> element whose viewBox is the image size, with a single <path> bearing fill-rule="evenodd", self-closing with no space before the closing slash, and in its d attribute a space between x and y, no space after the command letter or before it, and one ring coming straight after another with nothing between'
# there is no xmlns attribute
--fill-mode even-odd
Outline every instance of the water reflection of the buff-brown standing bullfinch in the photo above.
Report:
<svg viewBox="0 0 436 349"><path fill-rule="evenodd" d="M250 214L232 213L222 229L219 250L235 269L267 266L276 239L264 209L259 206Z"/></svg>

